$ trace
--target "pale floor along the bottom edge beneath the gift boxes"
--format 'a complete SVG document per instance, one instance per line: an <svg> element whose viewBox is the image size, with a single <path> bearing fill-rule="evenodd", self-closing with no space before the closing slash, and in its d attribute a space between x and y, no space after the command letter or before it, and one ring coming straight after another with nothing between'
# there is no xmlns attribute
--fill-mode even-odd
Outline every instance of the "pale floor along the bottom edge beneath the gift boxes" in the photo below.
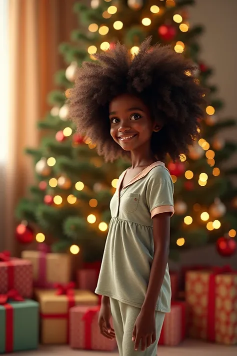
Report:
<svg viewBox="0 0 237 356"><path fill-rule="evenodd" d="M20 356L118 356L117 350L114 352L92 352L83 350L72 350L67 345L63 346L40 346L35 351L17 352ZM15 353L8 353L8 356L15 356ZM224 346L202 341L187 339L177 347L159 346L159 356L237 356L237 346Z"/></svg>

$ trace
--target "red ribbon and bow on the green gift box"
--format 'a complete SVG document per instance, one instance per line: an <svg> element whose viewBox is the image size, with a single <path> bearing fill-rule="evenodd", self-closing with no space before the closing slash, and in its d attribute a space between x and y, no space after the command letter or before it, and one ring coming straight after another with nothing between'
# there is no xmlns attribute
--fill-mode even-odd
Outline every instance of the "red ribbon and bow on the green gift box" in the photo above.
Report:
<svg viewBox="0 0 237 356"><path fill-rule="evenodd" d="M0 295L0 304L5 308L5 352L13 351L13 307L7 303L9 299L15 301L24 300L15 289Z"/></svg>

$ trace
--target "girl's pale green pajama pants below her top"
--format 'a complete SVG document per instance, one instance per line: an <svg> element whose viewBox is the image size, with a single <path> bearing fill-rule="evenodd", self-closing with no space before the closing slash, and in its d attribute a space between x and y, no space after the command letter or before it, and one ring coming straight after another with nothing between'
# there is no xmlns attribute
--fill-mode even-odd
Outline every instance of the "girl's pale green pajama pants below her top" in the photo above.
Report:
<svg viewBox="0 0 237 356"><path fill-rule="evenodd" d="M165 313L155 311L155 342L144 351L141 351L141 344L139 344L138 349L135 351L134 341L131 341L131 338L133 326L140 312L140 308L122 303L113 298L109 299L119 356L155 356Z"/></svg>

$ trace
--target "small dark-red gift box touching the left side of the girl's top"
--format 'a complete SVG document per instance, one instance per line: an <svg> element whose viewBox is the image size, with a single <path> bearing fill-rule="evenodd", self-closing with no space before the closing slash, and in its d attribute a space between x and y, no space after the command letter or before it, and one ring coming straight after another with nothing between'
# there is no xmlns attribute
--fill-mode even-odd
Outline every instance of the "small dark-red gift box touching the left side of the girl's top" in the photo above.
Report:
<svg viewBox="0 0 237 356"><path fill-rule="evenodd" d="M77 271L77 287L95 291L97 286L101 262L84 263L81 269Z"/></svg>

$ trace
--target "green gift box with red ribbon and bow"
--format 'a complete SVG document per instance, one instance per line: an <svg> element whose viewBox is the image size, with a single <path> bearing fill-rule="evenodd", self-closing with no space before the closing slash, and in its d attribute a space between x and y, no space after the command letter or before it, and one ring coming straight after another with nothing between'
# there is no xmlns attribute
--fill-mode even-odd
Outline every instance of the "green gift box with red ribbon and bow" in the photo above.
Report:
<svg viewBox="0 0 237 356"><path fill-rule="evenodd" d="M0 295L0 353L37 348L38 309L36 301L23 300L16 290Z"/></svg>

